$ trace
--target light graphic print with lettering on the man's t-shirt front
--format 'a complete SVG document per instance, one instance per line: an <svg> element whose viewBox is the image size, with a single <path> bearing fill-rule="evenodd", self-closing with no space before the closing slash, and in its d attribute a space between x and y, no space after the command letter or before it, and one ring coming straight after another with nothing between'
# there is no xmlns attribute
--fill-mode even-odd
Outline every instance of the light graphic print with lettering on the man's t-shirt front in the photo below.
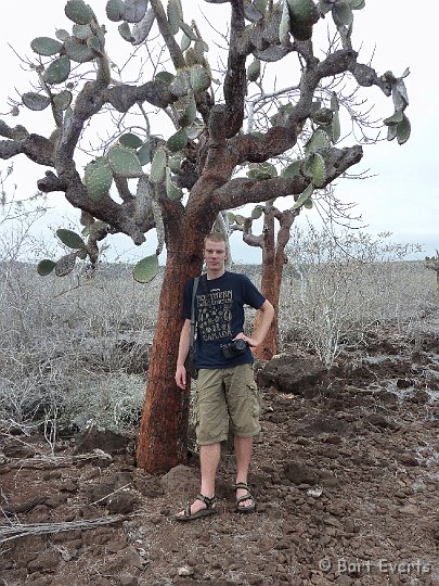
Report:
<svg viewBox="0 0 439 586"><path fill-rule="evenodd" d="M205 342L231 337L233 291L210 291L196 296L198 330Z"/></svg>

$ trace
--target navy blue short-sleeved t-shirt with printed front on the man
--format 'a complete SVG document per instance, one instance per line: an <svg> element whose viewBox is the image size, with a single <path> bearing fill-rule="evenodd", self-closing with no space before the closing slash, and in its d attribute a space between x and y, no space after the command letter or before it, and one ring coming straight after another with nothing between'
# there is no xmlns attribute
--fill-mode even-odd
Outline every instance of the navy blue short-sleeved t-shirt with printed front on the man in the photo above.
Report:
<svg viewBox="0 0 439 586"><path fill-rule="evenodd" d="M194 279L184 285L183 318L191 319ZM245 354L225 358L221 345L244 331L244 305L259 309L266 297L245 275L225 271L218 279L198 281L195 300L196 357L198 368L230 368L253 362L249 347Z"/></svg>

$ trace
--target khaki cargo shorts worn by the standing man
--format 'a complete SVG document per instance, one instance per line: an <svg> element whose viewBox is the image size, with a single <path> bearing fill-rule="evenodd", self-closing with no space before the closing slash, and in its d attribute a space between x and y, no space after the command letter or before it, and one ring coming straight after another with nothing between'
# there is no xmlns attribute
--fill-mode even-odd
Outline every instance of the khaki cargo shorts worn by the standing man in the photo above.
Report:
<svg viewBox="0 0 439 586"><path fill-rule="evenodd" d="M230 430L240 437L260 432L260 399L253 365L201 369L196 384L196 440L199 446L225 442Z"/></svg>

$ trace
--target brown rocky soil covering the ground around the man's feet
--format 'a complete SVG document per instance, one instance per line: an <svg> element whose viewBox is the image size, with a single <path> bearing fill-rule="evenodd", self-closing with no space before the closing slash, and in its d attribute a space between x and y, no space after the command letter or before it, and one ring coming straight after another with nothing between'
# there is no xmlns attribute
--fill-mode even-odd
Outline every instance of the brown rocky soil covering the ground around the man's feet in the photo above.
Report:
<svg viewBox="0 0 439 586"><path fill-rule="evenodd" d="M439 337L419 340L371 340L312 392L261 390L254 514L234 510L227 450L219 514L181 523L196 455L153 476L117 449L7 437L0 584L439 584Z"/></svg>

